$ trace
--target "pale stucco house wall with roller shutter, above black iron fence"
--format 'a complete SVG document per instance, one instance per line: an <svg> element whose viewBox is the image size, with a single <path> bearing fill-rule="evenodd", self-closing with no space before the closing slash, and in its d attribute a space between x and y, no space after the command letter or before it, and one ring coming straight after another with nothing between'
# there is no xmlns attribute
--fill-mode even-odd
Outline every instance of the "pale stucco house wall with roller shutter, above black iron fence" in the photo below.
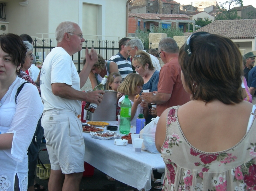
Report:
<svg viewBox="0 0 256 191"><path fill-rule="evenodd" d="M9 32L18 35L27 33L41 37L36 33L52 33L49 38L55 39L55 29L62 21L73 21L82 27L82 5L90 3L99 5L98 35L109 36L114 41L126 36L127 0L32 0L25 7L19 2L6 2L5 20L9 22ZM43 36L48 37L46 34Z"/></svg>

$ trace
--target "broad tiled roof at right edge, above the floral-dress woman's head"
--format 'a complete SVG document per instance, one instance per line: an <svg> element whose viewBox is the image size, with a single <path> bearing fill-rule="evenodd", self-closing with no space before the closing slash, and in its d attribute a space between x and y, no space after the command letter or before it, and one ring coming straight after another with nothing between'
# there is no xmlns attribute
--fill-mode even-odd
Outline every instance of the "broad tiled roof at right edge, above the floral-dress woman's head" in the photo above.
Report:
<svg viewBox="0 0 256 191"><path fill-rule="evenodd" d="M230 39L255 39L255 28L256 19L218 20L196 30L196 32L206 31Z"/></svg>

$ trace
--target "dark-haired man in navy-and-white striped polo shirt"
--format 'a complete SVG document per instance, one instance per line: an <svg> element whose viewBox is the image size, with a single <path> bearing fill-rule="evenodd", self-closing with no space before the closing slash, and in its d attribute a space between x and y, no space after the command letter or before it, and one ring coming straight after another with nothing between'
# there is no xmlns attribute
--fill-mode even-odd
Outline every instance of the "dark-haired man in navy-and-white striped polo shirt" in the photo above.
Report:
<svg viewBox="0 0 256 191"><path fill-rule="evenodd" d="M129 73L133 73L131 59L128 58L129 55L125 46L128 41L130 41L130 38L124 37L120 39L119 52L109 59L117 64L122 79L124 79Z"/></svg>

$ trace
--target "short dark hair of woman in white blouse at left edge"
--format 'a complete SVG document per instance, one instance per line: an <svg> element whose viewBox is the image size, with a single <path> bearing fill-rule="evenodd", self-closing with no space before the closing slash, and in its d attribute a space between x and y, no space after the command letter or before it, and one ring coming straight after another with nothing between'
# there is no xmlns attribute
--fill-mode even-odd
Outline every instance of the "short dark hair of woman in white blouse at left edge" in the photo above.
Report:
<svg viewBox="0 0 256 191"><path fill-rule="evenodd" d="M25 57L27 52L27 47L23 44L22 39L15 34L8 33L0 35L0 46L1 49L8 53L12 58L12 63L15 66L21 67L25 63Z"/></svg>

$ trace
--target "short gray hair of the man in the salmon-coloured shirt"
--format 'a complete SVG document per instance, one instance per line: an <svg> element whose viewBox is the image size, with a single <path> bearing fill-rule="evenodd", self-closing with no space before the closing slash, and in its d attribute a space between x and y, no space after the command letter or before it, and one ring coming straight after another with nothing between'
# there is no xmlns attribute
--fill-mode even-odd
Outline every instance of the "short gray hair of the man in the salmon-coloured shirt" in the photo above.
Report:
<svg viewBox="0 0 256 191"><path fill-rule="evenodd" d="M158 51L164 50L168 53L178 53L178 45L173 38L163 38L158 45Z"/></svg>

